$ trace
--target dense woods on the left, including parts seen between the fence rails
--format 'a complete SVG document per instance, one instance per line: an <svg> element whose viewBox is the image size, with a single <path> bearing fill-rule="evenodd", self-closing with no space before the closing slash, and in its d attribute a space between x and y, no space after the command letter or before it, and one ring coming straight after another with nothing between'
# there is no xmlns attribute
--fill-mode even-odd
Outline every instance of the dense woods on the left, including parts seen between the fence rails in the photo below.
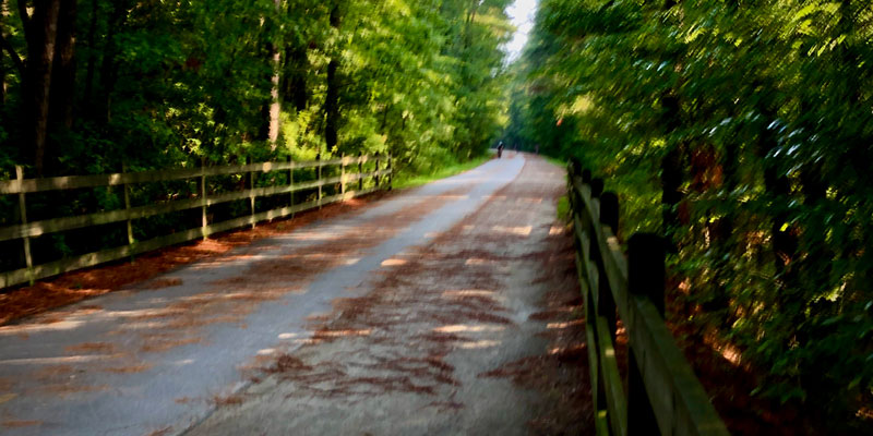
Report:
<svg viewBox="0 0 873 436"><path fill-rule="evenodd" d="M506 4L2 0L0 179L14 179L16 165L33 178L318 154L391 154L408 173L467 160L500 129ZM271 183L256 178L213 178L207 191ZM194 182L137 186L131 201L193 196ZM32 195L27 213L122 205L121 190L79 190ZM0 225L17 223L16 208L14 195L0 196ZM140 220L136 239L200 219L177 215ZM112 225L33 243L46 261L125 239ZM0 249L3 269L22 266L20 241Z"/></svg>

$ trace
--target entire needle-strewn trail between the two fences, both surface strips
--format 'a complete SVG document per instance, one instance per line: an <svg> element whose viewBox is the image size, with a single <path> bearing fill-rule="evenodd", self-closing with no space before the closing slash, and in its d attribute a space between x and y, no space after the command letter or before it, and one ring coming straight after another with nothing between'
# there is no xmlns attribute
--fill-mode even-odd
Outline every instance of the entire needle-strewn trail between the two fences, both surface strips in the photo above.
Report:
<svg viewBox="0 0 873 436"><path fill-rule="evenodd" d="M492 160L0 327L0 433L587 432L563 183Z"/></svg>

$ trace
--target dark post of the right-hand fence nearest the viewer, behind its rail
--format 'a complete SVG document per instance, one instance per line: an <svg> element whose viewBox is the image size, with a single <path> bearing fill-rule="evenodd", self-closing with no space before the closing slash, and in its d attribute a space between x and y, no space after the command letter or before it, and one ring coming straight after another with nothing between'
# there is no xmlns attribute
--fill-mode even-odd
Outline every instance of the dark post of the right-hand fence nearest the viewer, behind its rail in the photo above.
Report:
<svg viewBox="0 0 873 436"><path fill-rule="evenodd" d="M627 291L645 295L663 316L665 242L654 233L636 233L627 241ZM627 434L658 433L658 422L643 383L643 370L631 347L627 353Z"/></svg>

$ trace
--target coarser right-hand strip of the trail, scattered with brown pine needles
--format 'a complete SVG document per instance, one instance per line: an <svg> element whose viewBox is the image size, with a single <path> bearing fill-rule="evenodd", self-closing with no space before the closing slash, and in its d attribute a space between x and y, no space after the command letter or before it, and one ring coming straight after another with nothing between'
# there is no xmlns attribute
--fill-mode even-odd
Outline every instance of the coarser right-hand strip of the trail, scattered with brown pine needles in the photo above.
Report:
<svg viewBox="0 0 873 436"><path fill-rule="evenodd" d="M572 239L555 222L563 189L560 169L529 158L189 433L591 434Z"/></svg>

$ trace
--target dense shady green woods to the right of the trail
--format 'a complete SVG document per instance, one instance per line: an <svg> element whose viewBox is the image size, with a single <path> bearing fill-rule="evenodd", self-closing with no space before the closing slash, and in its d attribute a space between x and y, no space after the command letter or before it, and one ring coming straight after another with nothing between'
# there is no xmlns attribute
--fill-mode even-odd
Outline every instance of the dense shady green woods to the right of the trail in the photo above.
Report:
<svg viewBox="0 0 873 436"><path fill-rule="evenodd" d="M511 142L668 235L673 319L835 434L873 404L872 40L869 1L542 0L510 86Z"/></svg>

